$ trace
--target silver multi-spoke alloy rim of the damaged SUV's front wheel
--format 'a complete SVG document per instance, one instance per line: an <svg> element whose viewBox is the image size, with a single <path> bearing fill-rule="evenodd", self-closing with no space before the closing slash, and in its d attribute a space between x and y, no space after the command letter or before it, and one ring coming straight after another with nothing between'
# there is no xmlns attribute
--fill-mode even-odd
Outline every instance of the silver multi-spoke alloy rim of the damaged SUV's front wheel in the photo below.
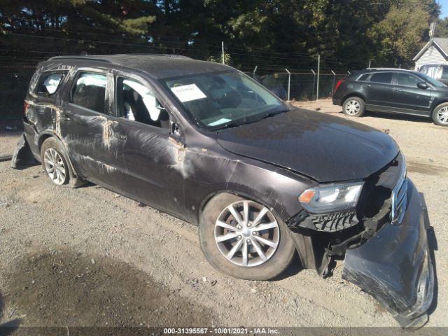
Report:
<svg viewBox="0 0 448 336"><path fill-rule="evenodd" d="M280 229L269 209L243 200L221 211L214 236L219 251L230 262L253 267L274 255L279 246Z"/></svg>

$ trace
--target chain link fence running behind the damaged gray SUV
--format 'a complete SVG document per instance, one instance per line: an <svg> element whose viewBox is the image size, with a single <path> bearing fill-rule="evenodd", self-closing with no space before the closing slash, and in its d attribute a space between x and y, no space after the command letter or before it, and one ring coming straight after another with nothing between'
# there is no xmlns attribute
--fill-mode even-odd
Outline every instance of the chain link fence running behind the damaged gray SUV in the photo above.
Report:
<svg viewBox="0 0 448 336"><path fill-rule="evenodd" d="M80 55L87 51L90 54L115 54L115 53L179 53L188 55L195 59L210 59L210 50L197 48L195 50L180 48L157 47L151 45L139 45L129 41L116 40L111 36L111 41L88 41L75 38L60 38L51 36L31 36L11 34L3 36L0 40L0 120L17 120L22 116L23 102L29 80L36 69L38 62L56 55ZM64 50L64 52L62 52ZM256 61L257 55L239 54L239 60L233 66L246 71L246 73L272 90L281 99L290 100L312 100L331 97L337 80L344 78L349 73L342 71L331 71L327 68L320 71L305 71L310 64L317 65L317 59L297 57L294 59L295 68L291 72L278 71L291 64L283 64L278 52L273 52L269 60L275 66L264 67L261 71L248 72ZM232 55L232 54L230 54ZM278 59L277 59L278 56ZM266 52L258 57L267 57ZM219 57L218 57L219 59ZM297 66L302 64L302 66ZM285 65L285 66L283 66ZM316 66L314 65L314 66ZM365 67L362 64L360 68ZM297 71L297 69L300 69ZM318 82L318 83L317 83ZM318 85L317 85L318 84Z"/></svg>

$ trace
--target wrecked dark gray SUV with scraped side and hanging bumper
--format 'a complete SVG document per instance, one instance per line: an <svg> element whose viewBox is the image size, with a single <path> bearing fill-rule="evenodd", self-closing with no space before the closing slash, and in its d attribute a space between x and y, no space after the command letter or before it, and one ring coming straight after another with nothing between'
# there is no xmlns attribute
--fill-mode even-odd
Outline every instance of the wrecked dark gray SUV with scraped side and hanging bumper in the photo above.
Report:
<svg viewBox="0 0 448 336"><path fill-rule="evenodd" d="M387 134L295 109L236 69L174 55L52 57L25 99L13 167L97 183L200 227L211 265L343 277L402 326L433 297L423 197Z"/></svg>

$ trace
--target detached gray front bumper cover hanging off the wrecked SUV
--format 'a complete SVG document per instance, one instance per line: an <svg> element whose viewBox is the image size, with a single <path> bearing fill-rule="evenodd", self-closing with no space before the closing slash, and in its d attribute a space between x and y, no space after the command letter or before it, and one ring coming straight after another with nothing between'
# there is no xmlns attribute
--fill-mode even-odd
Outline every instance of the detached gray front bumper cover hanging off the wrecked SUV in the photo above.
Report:
<svg viewBox="0 0 448 336"><path fill-rule="evenodd" d="M342 278L372 295L403 328L420 327L433 300L434 271L423 198L408 181L400 225L386 223L374 237L346 251Z"/></svg>

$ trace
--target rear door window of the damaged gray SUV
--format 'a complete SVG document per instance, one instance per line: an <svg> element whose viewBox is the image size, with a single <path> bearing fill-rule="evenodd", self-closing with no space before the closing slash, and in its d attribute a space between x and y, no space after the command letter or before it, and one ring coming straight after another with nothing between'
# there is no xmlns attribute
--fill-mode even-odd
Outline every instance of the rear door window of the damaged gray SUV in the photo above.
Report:
<svg viewBox="0 0 448 336"><path fill-rule="evenodd" d="M81 72L71 91L71 102L95 112L104 113L106 74Z"/></svg>

